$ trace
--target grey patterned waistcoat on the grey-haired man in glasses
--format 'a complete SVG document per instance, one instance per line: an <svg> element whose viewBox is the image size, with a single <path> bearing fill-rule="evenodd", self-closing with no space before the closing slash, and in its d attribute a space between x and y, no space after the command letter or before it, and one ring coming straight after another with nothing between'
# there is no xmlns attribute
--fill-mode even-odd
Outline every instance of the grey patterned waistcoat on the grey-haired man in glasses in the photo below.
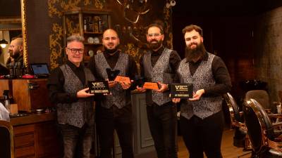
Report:
<svg viewBox="0 0 282 158"><path fill-rule="evenodd" d="M85 88L80 79L75 75L71 67L61 65L60 69L65 78L63 85L66 93L77 93ZM85 82L94 80L92 72L87 68L84 69ZM87 85L85 83L85 85ZM80 98L75 103L59 103L57 104L57 115L59 124L69 124L81 128L85 123L94 124L93 101L90 98Z"/></svg>

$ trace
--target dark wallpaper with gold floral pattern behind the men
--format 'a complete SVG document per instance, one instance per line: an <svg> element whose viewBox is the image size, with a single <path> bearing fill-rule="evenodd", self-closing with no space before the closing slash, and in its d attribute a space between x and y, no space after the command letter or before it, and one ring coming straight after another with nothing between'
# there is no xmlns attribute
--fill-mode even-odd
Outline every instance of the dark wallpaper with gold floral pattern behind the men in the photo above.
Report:
<svg viewBox="0 0 282 158"><path fill-rule="evenodd" d="M49 34L51 69L58 67L66 60L63 48L63 11L79 7L111 10L111 28L118 31L121 39L120 48L123 52L133 55L138 65L140 56L147 48L145 30L147 29L147 25L151 24L154 20L160 20L164 23L164 46L172 48L171 8L166 8L165 2L163 0L147 1L146 6L149 11L140 15L138 21L133 23L126 20L124 13L125 7L118 4L116 0L49 0L49 18L51 18L51 33ZM66 23L68 28L73 29L68 30L68 32L78 32L78 24L71 21L67 21Z"/></svg>

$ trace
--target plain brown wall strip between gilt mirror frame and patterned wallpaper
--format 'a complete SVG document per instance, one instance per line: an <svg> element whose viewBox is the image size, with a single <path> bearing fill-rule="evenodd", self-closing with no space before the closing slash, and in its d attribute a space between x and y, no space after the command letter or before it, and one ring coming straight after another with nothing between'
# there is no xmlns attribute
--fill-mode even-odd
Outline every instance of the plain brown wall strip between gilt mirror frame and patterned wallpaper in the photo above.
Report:
<svg viewBox="0 0 282 158"><path fill-rule="evenodd" d="M26 1L27 54L29 63L50 62L48 0Z"/></svg>

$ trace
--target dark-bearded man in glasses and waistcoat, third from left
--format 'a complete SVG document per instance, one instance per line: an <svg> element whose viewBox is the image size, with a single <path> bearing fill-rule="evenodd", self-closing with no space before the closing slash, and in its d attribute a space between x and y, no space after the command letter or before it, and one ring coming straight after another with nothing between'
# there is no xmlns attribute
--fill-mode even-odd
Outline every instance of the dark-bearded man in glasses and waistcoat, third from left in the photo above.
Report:
<svg viewBox="0 0 282 158"><path fill-rule="evenodd" d="M169 98L168 84L173 82L180 57L176 51L163 46L164 30L152 24L147 29L150 50L140 58L140 70L145 81L158 82L159 90L146 92L147 118L158 158L176 158L177 108Z"/></svg>

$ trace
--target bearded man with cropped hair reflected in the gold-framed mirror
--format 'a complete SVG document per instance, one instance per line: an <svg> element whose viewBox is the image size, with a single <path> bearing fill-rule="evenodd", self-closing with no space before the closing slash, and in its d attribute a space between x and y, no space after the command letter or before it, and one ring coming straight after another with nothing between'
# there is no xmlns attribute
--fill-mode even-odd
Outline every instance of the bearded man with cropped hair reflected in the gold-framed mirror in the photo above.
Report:
<svg viewBox="0 0 282 158"><path fill-rule="evenodd" d="M6 67L11 64L15 65L16 62L23 65L23 38L13 39L8 47L8 53L10 57L6 61Z"/></svg>

